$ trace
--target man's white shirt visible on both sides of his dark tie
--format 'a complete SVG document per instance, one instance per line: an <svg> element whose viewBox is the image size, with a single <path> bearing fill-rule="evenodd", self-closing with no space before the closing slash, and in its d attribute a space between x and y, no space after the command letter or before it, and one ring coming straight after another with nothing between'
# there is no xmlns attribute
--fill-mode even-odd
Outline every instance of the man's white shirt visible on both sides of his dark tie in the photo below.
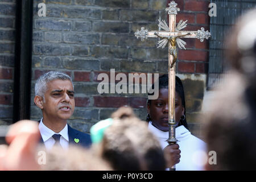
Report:
<svg viewBox="0 0 256 182"><path fill-rule="evenodd" d="M51 150L53 145L55 144L55 139L52 138L52 135L54 134L60 134L60 145L64 149L68 149L68 124L62 129L59 133L55 133L51 129L49 129L46 125L43 123L43 118L41 119L39 123L39 131L42 136L42 139L44 141L44 145L46 146L47 150Z"/></svg>

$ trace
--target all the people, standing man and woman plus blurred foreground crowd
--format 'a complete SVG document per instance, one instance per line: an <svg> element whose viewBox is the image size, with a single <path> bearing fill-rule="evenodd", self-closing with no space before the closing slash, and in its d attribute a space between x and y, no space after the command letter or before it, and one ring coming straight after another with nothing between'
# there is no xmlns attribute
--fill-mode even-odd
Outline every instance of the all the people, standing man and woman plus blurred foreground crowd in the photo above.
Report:
<svg viewBox="0 0 256 182"><path fill-rule="evenodd" d="M147 101L146 121L130 107L121 107L111 118L96 123L89 135L67 123L75 109L71 77L51 71L35 84L34 102L42 110L42 119L10 127L8 145L0 145L0 169L163 171L174 165L177 170L194 171L255 169L256 20L251 18L255 16L256 10L243 15L226 40L230 72L203 117L205 141L189 131L179 77L175 83L179 142L170 145L166 142L168 75L159 77L159 97ZM202 163L204 156L196 155L210 151L216 152L217 163Z"/></svg>

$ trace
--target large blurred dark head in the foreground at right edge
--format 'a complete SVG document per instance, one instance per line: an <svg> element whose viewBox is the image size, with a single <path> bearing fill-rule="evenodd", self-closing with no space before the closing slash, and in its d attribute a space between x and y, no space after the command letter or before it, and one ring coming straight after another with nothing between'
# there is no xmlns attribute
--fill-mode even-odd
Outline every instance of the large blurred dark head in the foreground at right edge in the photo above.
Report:
<svg viewBox="0 0 256 182"><path fill-rule="evenodd" d="M256 169L256 10L238 19L226 39L231 70L205 115L208 151L216 151L212 170Z"/></svg>

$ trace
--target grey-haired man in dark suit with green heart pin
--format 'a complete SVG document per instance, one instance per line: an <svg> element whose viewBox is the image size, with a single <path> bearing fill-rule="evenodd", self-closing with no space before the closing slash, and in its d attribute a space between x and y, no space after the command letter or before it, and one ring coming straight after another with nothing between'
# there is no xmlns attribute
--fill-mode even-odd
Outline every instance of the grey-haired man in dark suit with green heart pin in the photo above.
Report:
<svg viewBox="0 0 256 182"><path fill-rule="evenodd" d="M72 79L66 73L51 71L36 81L34 102L43 113L39 130L47 150L53 145L67 149L71 144L89 147L92 143L90 135L67 123L75 109L74 94Z"/></svg>

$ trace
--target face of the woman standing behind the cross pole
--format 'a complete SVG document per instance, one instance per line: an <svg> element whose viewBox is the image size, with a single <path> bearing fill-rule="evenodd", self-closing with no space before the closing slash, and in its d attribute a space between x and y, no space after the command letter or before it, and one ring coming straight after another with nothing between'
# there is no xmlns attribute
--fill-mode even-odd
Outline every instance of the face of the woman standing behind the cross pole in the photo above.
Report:
<svg viewBox="0 0 256 182"><path fill-rule="evenodd" d="M168 89L160 89L159 97L147 104L147 112L151 116L152 125L159 130L168 131ZM184 114L181 98L175 92L175 125L177 126L181 116Z"/></svg>

